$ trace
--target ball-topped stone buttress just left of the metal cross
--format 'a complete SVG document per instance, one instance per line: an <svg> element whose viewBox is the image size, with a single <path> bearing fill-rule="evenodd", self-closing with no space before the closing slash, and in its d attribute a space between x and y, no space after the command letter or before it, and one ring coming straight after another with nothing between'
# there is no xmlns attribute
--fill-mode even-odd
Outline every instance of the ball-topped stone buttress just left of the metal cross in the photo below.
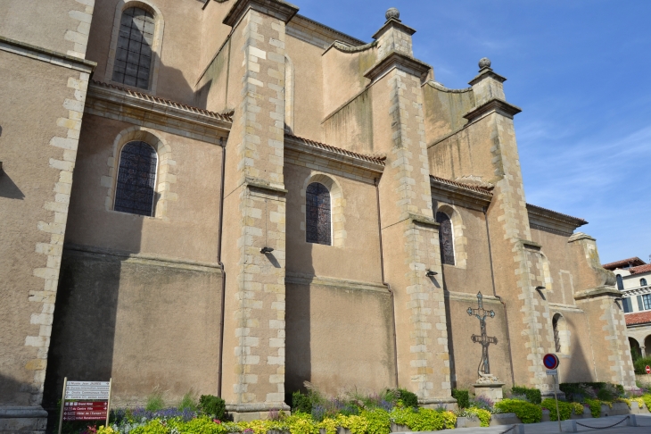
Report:
<svg viewBox="0 0 651 434"><path fill-rule="evenodd" d="M433 220L421 83L431 67L412 57L415 30L397 16L374 36L382 54L371 80L386 280L395 295L400 388L423 405L452 404L438 224Z"/></svg>

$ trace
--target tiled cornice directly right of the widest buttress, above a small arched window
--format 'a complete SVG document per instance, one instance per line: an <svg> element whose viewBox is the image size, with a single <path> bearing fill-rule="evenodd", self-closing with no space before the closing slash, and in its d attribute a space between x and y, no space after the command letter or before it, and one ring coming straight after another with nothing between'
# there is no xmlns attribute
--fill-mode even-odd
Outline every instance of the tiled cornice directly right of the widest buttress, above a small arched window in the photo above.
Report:
<svg viewBox="0 0 651 434"><path fill-rule="evenodd" d="M377 174L384 171L384 162L380 158L347 151L345 149L315 142L308 138L299 138L286 134L284 136L284 147L302 154L315 155L325 158L326 160L346 164L353 168L365 171L372 171Z"/></svg>

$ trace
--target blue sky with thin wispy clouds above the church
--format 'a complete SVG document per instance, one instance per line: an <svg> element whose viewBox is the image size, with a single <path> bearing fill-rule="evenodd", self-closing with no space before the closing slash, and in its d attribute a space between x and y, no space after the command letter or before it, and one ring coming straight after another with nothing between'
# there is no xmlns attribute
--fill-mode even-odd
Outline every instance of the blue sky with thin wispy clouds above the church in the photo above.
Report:
<svg viewBox="0 0 651 434"><path fill-rule="evenodd" d="M294 0L370 42L389 7L436 80L507 77L527 202L589 221L602 263L651 255L651 1Z"/></svg>

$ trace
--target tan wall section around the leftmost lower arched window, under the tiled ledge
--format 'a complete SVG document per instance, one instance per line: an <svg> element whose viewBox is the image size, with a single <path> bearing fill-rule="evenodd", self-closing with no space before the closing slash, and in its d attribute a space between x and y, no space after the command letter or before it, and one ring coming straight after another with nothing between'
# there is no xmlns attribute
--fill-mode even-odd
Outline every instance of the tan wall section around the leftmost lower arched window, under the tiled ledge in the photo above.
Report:
<svg viewBox="0 0 651 434"><path fill-rule="evenodd" d="M158 150L157 188L168 197L166 209L153 217L113 211L113 192L121 146L120 135L133 124L87 115L81 131L78 167L72 188L70 231L66 242L165 255L185 260L217 260L221 147L160 129L144 141ZM141 138L134 138L141 139ZM167 174L161 171L168 167Z"/></svg>

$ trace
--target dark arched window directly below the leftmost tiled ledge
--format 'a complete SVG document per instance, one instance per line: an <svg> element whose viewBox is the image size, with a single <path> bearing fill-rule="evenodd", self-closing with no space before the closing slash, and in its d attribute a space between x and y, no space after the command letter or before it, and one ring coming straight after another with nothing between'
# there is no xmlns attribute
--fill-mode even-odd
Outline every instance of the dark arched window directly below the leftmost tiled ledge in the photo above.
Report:
<svg viewBox="0 0 651 434"><path fill-rule="evenodd" d="M129 142L122 148L115 211L152 216L157 162L156 151L144 142Z"/></svg>

